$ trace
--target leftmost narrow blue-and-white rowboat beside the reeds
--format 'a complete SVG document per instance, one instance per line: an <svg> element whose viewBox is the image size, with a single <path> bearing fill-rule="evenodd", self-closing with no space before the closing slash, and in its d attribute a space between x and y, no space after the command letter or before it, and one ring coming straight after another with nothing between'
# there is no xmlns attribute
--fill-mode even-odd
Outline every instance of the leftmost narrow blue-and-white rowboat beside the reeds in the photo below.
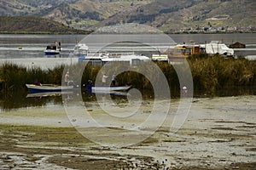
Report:
<svg viewBox="0 0 256 170"><path fill-rule="evenodd" d="M61 92L73 89L73 86L58 86L54 84L42 84L41 86L34 84L26 84L26 88L30 93L45 93L45 92Z"/></svg>

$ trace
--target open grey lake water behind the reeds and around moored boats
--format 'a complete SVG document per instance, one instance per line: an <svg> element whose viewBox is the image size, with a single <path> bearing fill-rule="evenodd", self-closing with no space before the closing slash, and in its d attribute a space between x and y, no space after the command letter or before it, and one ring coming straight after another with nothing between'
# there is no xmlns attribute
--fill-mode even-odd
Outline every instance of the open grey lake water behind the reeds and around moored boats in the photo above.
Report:
<svg viewBox="0 0 256 170"><path fill-rule="evenodd" d="M211 41L221 41L229 45L233 42L245 43L246 49L237 49L236 54L256 55L256 34L241 33L241 34L174 34L169 35L174 42L196 42L205 43ZM49 58L44 55L44 49L49 43L55 41L61 42L61 55L51 56L55 61L62 62L59 58L68 58L73 53L73 48L77 42L80 42L86 37L85 35L0 35L0 59L42 59L43 61ZM148 37L146 37L148 38ZM152 37L151 37L152 38ZM103 41L101 37L98 40ZM151 39L151 42L160 42L160 40ZM145 40L147 42L147 40ZM21 47L22 49L19 49ZM241 53L242 51L242 53ZM16 60L17 61L17 60ZM49 62L52 62L50 60Z"/></svg>

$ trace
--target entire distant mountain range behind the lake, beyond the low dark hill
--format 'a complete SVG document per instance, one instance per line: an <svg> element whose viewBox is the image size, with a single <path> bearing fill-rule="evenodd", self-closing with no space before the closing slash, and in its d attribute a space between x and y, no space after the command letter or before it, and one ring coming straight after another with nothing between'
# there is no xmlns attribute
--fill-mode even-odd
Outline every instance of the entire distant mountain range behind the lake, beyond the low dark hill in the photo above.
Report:
<svg viewBox="0 0 256 170"><path fill-rule="evenodd" d="M0 15L37 15L78 29L140 23L163 31L255 28L255 0L0 0Z"/></svg>

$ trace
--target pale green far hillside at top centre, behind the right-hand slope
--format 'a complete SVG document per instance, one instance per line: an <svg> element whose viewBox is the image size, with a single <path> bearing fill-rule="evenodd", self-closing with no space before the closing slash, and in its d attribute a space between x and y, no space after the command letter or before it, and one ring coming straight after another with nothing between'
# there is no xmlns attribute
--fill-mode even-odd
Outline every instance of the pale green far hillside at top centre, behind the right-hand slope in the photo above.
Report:
<svg viewBox="0 0 256 170"><path fill-rule="evenodd" d="M92 28L102 26L103 20L113 17L120 12L130 13L131 9L150 3L152 0L140 1L106 1L91 2L89 0L79 0L70 5L60 5L48 14L41 16L58 20L61 23L75 28ZM49 9L50 10L50 9Z"/></svg>

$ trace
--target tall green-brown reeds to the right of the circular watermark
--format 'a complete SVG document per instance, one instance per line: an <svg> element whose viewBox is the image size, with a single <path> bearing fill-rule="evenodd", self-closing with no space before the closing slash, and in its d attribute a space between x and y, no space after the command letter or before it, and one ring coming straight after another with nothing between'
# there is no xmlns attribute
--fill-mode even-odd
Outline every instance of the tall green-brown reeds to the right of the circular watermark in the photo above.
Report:
<svg viewBox="0 0 256 170"><path fill-rule="evenodd" d="M190 56L188 62L195 90L205 94L228 87L256 86L256 61L197 55Z"/></svg>

